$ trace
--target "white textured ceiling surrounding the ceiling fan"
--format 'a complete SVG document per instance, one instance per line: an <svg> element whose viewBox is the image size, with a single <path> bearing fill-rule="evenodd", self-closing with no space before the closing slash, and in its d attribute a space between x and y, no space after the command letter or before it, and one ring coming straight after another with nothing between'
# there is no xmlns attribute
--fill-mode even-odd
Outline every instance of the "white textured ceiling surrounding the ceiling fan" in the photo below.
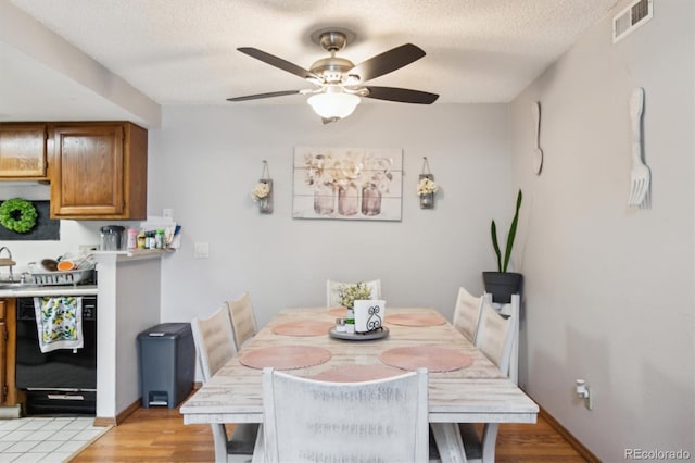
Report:
<svg viewBox="0 0 695 463"><path fill-rule="evenodd" d="M327 57L311 41L311 33L329 26L356 34L354 42L339 52L353 63L406 42L427 52L425 58L370 84L435 92L440 95L438 103L507 102L617 3L617 0L0 1L9 1L38 20L162 105L302 102L305 97L301 96L226 102L228 97L311 88L299 77L236 49L255 47L308 68L314 61ZM22 65L21 59L12 59L16 58L13 52L0 57L3 66ZM12 108L0 105L0 113L5 118L12 117Z"/></svg>

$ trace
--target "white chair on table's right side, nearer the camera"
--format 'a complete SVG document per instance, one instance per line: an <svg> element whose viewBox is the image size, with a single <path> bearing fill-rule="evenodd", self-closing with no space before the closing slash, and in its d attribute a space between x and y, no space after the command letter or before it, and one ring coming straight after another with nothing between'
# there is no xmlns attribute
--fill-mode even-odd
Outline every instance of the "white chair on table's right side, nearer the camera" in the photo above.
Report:
<svg viewBox="0 0 695 463"><path fill-rule="evenodd" d="M503 316L492 306L488 298L483 298L480 322L476 334L476 348L508 375L509 360L517 317ZM473 423L433 423L431 425L434 440L442 455L442 462L494 463L498 423L485 423L479 434ZM445 437L447 436L447 437ZM452 454L444 442L456 441L463 446L465 460Z"/></svg>

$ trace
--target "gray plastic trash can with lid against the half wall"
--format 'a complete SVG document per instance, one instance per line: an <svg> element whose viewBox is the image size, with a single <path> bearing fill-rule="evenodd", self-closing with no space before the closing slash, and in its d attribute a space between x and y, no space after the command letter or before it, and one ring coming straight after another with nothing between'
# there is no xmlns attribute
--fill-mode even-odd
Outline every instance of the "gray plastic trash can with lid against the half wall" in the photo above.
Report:
<svg viewBox="0 0 695 463"><path fill-rule="evenodd" d="M195 346L190 323L163 323L138 335L142 406L176 408L193 389Z"/></svg>

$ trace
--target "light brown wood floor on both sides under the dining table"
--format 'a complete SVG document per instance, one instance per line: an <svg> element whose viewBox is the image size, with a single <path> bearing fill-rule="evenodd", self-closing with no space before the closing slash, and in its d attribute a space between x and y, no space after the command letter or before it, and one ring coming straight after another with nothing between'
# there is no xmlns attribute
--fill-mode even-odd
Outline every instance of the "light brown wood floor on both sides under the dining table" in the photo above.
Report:
<svg viewBox="0 0 695 463"><path fill-rule="evenodd" d="M539 416L534 425L500 426L497 462L585 462ZM73 463L214 462L210 425L184 425L177 409L139 409L77 455Z"/></svg>

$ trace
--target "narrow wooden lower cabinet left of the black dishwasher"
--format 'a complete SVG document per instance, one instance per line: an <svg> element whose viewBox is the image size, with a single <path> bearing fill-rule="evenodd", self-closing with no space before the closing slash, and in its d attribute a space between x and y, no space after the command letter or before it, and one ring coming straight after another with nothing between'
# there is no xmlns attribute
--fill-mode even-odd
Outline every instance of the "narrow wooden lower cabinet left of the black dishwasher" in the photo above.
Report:
<svg viewBox="0 0 695 463"><path fill-rule="evenodd" d="M16 299L0 299L0 405L18 403L15 385Z"/></svg>

